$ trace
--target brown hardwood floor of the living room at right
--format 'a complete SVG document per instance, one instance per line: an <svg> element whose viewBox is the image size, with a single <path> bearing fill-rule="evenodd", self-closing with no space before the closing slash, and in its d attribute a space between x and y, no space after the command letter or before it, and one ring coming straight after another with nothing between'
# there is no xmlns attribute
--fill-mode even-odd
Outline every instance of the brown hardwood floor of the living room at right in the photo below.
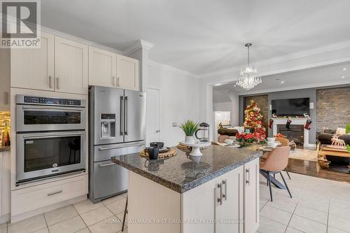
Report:
<svg viewBox="0 0 350 233"><path fill-rule="evenodd" d="M295 172L297 174L304 174L307 176L314 176L318 178L325 178L332 181L343 181L350 183L350 174L330 171L328 169L322 169L319 167L318 162L297 160L290 158L286 171Z"/></svg>

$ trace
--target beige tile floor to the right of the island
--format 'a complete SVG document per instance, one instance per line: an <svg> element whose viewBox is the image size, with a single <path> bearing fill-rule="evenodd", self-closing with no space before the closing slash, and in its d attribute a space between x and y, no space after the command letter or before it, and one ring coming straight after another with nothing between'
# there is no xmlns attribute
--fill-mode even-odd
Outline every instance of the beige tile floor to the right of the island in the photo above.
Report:
<svg viewBox="0 0 350 233"><path fill-rule="evenodd" d="M283 176L287 178L283 171ZM291 174L286 190L273 188L269 202L266 179L260 176L260 233L350 232L350 184ZM281 176L276 174L281 181ZM274 186L273 186L274 187Z"/></svg>

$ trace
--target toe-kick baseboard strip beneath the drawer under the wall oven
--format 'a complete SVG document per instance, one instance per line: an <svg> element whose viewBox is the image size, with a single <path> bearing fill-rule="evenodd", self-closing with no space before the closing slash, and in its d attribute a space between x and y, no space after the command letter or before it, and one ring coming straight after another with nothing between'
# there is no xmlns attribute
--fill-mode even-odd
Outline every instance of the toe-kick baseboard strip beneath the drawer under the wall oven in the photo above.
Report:
<svg viewBox="0 0 350 233"><path fill-rule="evenodd" d="M80 197L75 197L73 199L69 199L69 200L66 200L64 202L58 202L56 204L53 204L53 205L50 205L50 206L45 206L45 207L36 209L34 211L28 211L26 213L20 213L17 216L12 216L10 221L11 221L11 223L15 223L15 222L18 222L18 221L23 220L25 218L30 218L30 217L33 217L33 216L37 216L38 214L45 213L45 212L48 212L48 211L52 211L54 209L58 209L58 208L61 208L63 206L68 206L70 204L83 201L85 199L87 199L87 195L82 195Z"/></svg>

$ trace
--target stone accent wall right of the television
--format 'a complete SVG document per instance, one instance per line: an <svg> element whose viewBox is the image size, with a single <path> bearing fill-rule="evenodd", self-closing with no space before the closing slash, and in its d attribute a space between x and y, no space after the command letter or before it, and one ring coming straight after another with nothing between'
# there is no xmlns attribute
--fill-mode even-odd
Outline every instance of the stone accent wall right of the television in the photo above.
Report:
<svg viewBox="0 0 350 233"><path fill-rule="evenodd" d="M316 90L317 131L350 124L350 87Z"/></svg>

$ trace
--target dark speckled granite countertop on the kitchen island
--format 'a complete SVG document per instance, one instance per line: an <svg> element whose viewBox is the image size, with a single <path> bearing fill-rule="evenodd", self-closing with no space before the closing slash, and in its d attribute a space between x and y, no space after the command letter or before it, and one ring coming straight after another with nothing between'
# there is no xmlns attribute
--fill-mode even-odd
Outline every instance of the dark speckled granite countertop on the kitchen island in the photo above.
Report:
<svg viewBox="0 0 350 233"><path fill-rule="evenodd" d="M258 147L209 146L202 150L203 155L200 157L186 155L174 148L177 151L174 157L148 160L139 153L134 153L112 157L112 162L183 193L260 157L262 152L257 150Z"/></svg>

